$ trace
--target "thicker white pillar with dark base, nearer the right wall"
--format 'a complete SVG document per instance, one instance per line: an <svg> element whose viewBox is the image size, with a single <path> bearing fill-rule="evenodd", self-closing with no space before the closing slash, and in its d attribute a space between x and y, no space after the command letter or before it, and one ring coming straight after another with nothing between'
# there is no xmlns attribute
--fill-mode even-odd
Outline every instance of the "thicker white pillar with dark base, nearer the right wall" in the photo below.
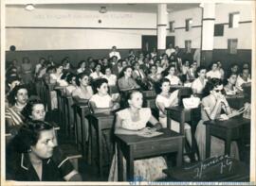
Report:
<svg viewBox="0 0 256 186"><path fill-rule="evenodd" d="M208 66L212 61L213 43L214 43L214 22L215 22L215 4L205 3L202 5L202 50L201 64Z"/></svg>

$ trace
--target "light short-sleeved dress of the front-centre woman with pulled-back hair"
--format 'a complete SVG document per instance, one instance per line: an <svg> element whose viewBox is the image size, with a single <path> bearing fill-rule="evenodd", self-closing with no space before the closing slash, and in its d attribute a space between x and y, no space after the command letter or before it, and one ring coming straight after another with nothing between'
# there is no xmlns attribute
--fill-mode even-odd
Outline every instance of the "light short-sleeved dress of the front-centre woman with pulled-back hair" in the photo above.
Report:
<svg viewBox="0 0 256 186"><path fill-rule="evenodd" d="M149 108L142 108L139 110L139 118L137 122L132 121L131 113L128 109L117 112L119 118L122 120L121 127L126 129L142 129L146 127L147 122L151 117L151 110ZM162 173L163 169L167 168L166 161L162 157L155 157L150 159L143 159L134 161L135 177L143 178L146 181L152 181L159 178L165 178L166 175ZM126 161L123 159L123 177L126 177ZM116 152L111 164L109 181L118 181L118 152Z"/></svg>

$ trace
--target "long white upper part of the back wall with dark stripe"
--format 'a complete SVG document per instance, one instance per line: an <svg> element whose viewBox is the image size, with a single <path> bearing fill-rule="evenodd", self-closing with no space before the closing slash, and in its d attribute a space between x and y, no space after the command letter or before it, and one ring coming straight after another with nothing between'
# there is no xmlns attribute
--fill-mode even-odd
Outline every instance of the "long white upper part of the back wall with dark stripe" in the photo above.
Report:
<svg viewBox="0 0 256 186"><path fill-rule="evenodd" d="M155 13L84 8L8 7L7 50L140 48L141 35L156 34Z"/></svg>

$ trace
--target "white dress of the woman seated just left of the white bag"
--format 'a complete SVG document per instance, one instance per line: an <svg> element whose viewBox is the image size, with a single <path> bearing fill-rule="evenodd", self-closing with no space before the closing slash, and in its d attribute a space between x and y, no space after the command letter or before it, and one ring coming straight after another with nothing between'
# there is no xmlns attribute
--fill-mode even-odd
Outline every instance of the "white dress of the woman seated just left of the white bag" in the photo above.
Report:
<svg viewBox="0 0 256 186"><path fill-rule="evenodd" d="M178 104L178 90L174 91L170 94L170 97L165 97L161 94L158 94L155 99L155 105L157 107L157 103L161 103L164 105L165 108L169 108L172 106L177 106ZM159 108L157 107L159 110ZM159 110L159 122L161 123L162 127L167 127L167 116L161 110ZM175 132L180 132L179 123L171 120L171 129ZM185 129L190 129L190 125L185 123Z"/></svg>

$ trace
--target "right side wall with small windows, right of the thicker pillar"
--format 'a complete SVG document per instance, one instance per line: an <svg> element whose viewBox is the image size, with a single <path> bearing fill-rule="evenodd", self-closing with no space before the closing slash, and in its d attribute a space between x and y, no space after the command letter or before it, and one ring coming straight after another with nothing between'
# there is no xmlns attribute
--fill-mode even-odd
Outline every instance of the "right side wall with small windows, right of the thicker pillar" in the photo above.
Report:
<svg viewBox="0 0 256 186"><path fill-rule="evenodd" d="M232 12L240 13L240 24L235 28L229 28L229 13ZM221 59L226 67L233 62L251 64L252 13L253 6L249 4L216 5L215 24L224 25L224 36L214 37L213 60ZM228 39L238 39L236 55L229 54Z"/></svg>

